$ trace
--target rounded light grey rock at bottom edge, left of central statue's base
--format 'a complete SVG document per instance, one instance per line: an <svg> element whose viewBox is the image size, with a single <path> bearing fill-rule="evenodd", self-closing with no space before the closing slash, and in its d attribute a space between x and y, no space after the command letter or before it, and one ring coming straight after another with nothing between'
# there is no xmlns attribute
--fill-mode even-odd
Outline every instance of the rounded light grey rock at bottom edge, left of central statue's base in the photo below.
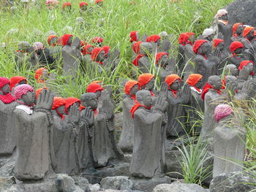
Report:
<svg viewBox="0 0 256 192"><path fill-rule="evenodd" d="M100 182L100 187L102 189L132 189L132 185L132 181L129 180L129 177L126 176L105 177Z"/></svg>

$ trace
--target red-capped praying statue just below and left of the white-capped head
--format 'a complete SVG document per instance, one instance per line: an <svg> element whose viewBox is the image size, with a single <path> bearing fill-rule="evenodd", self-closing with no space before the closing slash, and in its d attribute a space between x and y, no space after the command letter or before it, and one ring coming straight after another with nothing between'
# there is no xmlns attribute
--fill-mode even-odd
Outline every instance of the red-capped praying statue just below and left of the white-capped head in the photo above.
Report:
<svg viewBox="0 0 256 192"><path fill-rule="evenodd" d="M219 64L214 57L208 58L208 46L206 40L197 40L193 47L194 52L197 54L195 57L195 73L203 75L203 85L206 84L208 77L217 74L217 65Z"/></svg>

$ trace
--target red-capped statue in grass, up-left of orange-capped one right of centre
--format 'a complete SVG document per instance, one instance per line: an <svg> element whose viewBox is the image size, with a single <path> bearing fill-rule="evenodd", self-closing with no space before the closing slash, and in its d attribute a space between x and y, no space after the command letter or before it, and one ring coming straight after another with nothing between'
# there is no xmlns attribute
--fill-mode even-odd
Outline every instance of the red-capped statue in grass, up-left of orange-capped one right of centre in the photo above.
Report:
<svg viewBox="0 0 256 192"><path fill-rule="evenodd" d="M165 77L168 74L175 72L174 69L170 69L168 53L159 52L156 55L156 72L159 73L161 82L165 81Z"/></svg>

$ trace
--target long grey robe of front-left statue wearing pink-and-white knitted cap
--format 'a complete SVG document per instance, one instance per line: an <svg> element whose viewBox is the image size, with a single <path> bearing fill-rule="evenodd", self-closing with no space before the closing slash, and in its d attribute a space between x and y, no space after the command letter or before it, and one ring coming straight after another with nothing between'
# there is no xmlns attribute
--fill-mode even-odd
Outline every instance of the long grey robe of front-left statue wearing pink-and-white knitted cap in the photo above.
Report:
<svg viewBox="0 0 256 192"><path fill-rule="evenodd" d="M50 123L45 112L33 112L25 105L15 111L18 131L18 157L15 177L18 180L40 180L50 171Z"/></svg>

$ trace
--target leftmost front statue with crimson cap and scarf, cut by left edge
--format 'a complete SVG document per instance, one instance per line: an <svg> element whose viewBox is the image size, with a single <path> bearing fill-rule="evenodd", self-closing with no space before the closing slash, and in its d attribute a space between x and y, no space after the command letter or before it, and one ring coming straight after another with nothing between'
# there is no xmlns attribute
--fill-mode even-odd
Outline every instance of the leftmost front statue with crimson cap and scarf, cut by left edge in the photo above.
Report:
<svg viewBox="0 0 256 192"><path fill-rule="evenodd" d="M10 93L10 80L0 77L0 156L12 155L16 147L16 130L13 110L17 106L15 98Z"/></svg>

